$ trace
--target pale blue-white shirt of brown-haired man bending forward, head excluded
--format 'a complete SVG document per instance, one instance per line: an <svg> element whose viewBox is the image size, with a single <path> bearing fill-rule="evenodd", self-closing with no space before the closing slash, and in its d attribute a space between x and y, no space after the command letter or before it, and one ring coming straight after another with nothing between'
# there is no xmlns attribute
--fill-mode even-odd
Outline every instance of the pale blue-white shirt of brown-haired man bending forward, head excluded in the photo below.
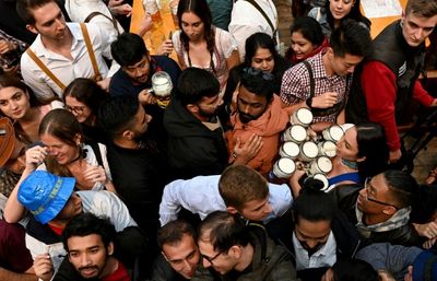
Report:
<svg viewBox="0 0 437 281"><path fill-rule="evenodd" d="M218 192L217 176L198 176L191 179L177 179L164 188L163 200L160 204L161 225L177 219L180 208L199 214L203 220L213 211L226 211L226 204ZM292 194L287 185L269 184L269 203L272 213L264 222L281 216L292 206Z"/></svg>

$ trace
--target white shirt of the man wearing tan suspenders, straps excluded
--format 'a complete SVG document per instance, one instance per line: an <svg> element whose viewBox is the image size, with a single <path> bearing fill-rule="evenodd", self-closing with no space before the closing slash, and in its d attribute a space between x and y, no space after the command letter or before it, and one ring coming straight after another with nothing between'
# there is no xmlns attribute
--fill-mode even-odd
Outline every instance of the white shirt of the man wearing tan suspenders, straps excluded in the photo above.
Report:
<svg viewBox="0 0 437 281"><path fill-rule="evenodd" d="M59 54L52 52L44 46L40 35L31 45L31 49L46 65L46 67L67 86L75 78L93 78L94 70L86 50L85 40L82 35L79 23L67 23L73 36L71 45L70 60ZM113 60L110 69L108 69L104 57L113 59L110 54L111 38L110 33L102 30L96 24L86 24L90 40L94 48L94 54L102 77L113 77L120 66ZM42 99L48 99L54 93L62 97L62 90L27 56L26 52L21 57L21 73L24 82L35 92L35 95Z"/></svg>

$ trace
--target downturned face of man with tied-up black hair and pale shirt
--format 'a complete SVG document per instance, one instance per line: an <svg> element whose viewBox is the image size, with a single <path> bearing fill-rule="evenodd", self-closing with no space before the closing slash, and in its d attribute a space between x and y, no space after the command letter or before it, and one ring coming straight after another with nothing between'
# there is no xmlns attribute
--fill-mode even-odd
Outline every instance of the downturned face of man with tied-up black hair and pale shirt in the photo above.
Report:
<svg viewBox="0 0 437 281"><path fill-rule="evenodd" d="M294 232L306 250L316 253L327 243L331 233L331 222L311 222L299 216Z"/></svg>

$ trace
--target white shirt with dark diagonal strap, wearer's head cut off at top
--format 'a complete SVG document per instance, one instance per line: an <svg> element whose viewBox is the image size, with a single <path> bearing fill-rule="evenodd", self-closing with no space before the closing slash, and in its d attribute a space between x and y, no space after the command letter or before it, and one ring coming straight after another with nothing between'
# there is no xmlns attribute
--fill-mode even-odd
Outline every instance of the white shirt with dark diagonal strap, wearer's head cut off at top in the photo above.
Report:
<svg viewBox="0 0 437 281"><path fill-rule="evenodd" d="M277 30L277 11L272 0L255 0L269 16L275 30ZM238 43L240 61L244 61L246 39L257 32L273 36L274 31L270 27L264 16L248 1L239 0L234 3L231 13L229 33ZM279 43L276 32L276 42Z"/></svg>

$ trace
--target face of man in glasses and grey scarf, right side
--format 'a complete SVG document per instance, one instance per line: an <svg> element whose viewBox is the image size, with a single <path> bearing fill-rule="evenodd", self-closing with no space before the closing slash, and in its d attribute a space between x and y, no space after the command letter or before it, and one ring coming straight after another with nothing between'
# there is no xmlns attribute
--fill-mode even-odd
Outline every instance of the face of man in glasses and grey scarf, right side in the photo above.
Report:
<svg viewBox="0 0 437 281"><path fill-rule="evenodd" d="M392 212L397 211L382 174L366 180L365 188L359 190L356 206L364 214L380 214L385 210L387 211L387 208L390 208Z"/></svg>

